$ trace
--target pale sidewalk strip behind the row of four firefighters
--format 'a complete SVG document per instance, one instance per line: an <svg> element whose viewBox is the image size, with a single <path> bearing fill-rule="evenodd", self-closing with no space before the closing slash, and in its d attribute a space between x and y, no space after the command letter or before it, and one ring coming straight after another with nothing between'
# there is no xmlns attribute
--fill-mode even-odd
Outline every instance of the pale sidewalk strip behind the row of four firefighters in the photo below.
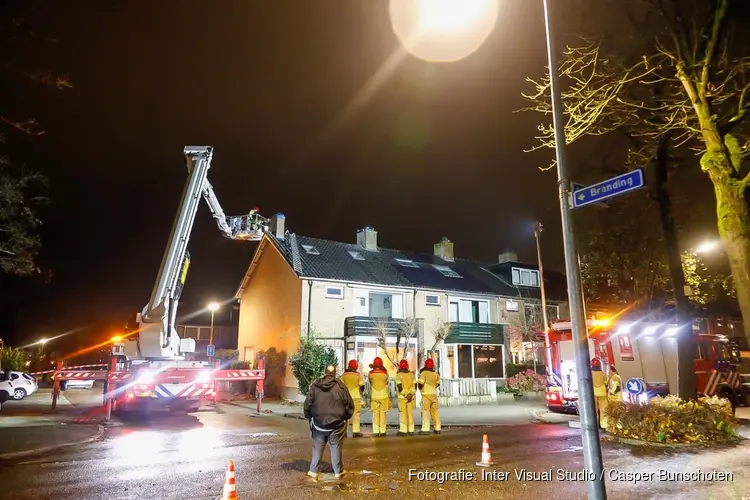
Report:
<svg viewBox="0 0 750 500"><path fill-rule="evenodd" d="M247 408L253 412L255 401L226 401L231 404ZM263 413L271 412L276 416L304 419L302 405L282 404L279 401L263 401ZM398 408L394 407L386 414L388 427L398 427ZM488 405L444 406L440 408L440 421L444 427L483 427L499 425L525 425L531 423L561 424L567 423L570 417L557 415L547 411L543 402L513 402ZM362 410L363 425L372 425L372 412ZM414 411L414 424L422 425L422 412L419 408Z"/></svg>

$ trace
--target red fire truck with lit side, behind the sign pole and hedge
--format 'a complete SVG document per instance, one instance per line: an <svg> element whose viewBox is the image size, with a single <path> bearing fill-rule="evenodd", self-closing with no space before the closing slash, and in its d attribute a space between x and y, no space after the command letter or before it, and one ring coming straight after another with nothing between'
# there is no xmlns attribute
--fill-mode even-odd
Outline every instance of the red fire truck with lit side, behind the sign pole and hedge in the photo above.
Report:
<svg viewBox="0 0 750 500"><path fill-rule="evenodd" d="M578 412L578 377L575 346L567 320L552 322L552 375L547 384L547 407L558 413ZM614 365L622 378L623 398L645 402L670 393L677 387L676 325L644 321L587 321L589 356L599 358L602 370ZM740 373L739 350L723 335L693 332L695 374L699 395L727 398L733 406L745 403ZM633 382L634 391L627 387ZM633 394L633 393L638 394Z"/></svg>

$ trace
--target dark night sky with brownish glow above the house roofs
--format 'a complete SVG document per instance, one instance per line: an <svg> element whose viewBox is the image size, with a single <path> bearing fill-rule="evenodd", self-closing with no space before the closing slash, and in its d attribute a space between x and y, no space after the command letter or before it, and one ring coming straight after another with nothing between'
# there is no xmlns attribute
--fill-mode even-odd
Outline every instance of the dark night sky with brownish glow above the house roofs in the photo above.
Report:
<svg viewBox="0 0 750 500"><path fill-rule="evenodd" d="M2 291L6 334L111 328L145 305L186 144L215 147L209 180L227 214L258 206L298 234L354 242L369 224L385 247L431 252L447 236L458 257L494 261L512 248L532 262L538 219L546 265L562 268L556 176L537 168L552 151L524 153L540 116L513 113L524 78L544 71L541 2L502 0L477 53L454 64L407 57L361 101L399 48L385 1L5 3L58 40L4 41L15 63L73 84L3 79L3 113L46 129L8 130L5 147L49 177L39 261L53 273ZM583 1L552 3L564 7L562 37L617 20ZM573 166L609 147L573 148ZM694 170L684 183L692 203L708 200L710 229L710 185ZM190 250L184 300L197 307L232 296L254 245L222 238L202 202Z"/></svg>

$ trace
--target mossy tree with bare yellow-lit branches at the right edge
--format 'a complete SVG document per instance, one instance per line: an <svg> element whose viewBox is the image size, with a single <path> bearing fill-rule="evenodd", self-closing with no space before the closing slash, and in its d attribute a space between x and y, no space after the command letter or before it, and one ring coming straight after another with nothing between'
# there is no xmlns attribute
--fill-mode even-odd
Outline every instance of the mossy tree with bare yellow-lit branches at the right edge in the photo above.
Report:
<svg viewBox="0 0 750 500"><path fill-rule="evenodd" d="M728 17L730 3L737 12L747 10L747 3L617 0L608 7L618 3L634 21L635 38L623 47L619 34L619 50L606 56L602 40L568 48L559 68L570 83L563 95L566 142L628 128L641 142L631 151L631 166L680 147L700 156L714 187L719 234L750 339L750 57L738 50L737 36L746 35L745 26L739 17ZM549 80L531 81L532 109L549 113ZM554 147L552 132L540 126L538 147ZM692 372L689 349L682 343L679 348L679 371L685 376ZM681 387L683 397L690 397L688 392Z"/></svg>

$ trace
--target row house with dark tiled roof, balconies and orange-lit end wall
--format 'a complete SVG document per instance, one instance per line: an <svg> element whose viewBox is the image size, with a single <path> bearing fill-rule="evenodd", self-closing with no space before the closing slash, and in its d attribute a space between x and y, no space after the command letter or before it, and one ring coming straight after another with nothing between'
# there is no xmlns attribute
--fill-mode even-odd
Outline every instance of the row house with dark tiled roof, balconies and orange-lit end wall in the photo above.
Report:
<svg viewBox="0 0 750 500"><path fill-rule="evenodd" d="M511 254L482 263L455 258L445 238L428 254L380 248L370 227L342 243L284 226L283 216L272 218L235 297L240 359L273 350L285 365L272 382L281 396L297 395L286 360L304 336L333 348L341 366L357 359L365 373L376 356L395 372L389 360L406 348L412 368L431 356L444 378L502 380L516 357L514 326L540 316L538 270ZM564 304L554 288L548 304L558 317Z"/></svg>

